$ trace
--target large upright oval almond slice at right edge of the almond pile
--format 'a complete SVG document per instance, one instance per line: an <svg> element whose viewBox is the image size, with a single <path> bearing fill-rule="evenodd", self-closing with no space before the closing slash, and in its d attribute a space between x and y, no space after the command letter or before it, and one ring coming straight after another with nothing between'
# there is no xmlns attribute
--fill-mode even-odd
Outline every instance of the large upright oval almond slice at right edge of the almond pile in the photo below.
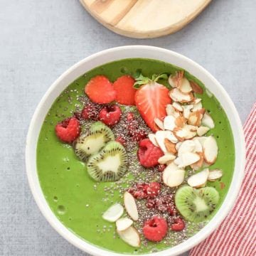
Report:
<svg viewBox="0 0 256 256"><path fill-rule="evenodd" d="M207 164L214 164L218 155L218 145L213 136L207 137L203 143L203 157Z"/></svg>

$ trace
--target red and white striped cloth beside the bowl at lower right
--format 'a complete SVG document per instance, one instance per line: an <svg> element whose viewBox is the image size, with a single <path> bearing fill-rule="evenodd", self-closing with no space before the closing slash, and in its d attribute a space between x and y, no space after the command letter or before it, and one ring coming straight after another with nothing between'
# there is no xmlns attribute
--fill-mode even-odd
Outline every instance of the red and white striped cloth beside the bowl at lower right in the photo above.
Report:
<svg viewBox="0 0 256 256"><path fill-rule="evenodd" d="M217 230L189 256L256 256L256 103L244 125L245 177L238 199Z"/></svg>

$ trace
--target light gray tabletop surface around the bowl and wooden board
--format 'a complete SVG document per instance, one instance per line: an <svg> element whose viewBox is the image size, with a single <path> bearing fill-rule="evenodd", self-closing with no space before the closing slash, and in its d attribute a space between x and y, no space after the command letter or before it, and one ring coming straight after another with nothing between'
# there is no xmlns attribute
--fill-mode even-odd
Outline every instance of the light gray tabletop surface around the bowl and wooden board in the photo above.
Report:
<svg viewBox="0 0 256 256"><path fill-rule="evenodd" d="M256 1L215 0L182 31L154 40L118 36L78 0L0 1L0 255L85 255L46 222L24 164L33 111L70 65L113 46L146 44L183 53L217 78L245 121L256 100Z"/></svg>

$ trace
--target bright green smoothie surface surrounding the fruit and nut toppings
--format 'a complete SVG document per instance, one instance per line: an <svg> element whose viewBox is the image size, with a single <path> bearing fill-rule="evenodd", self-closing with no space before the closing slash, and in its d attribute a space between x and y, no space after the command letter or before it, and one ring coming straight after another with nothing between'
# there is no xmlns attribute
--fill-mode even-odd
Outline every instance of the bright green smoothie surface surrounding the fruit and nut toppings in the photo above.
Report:
<svg viewBox="0 0 256 256"><path fill-rule="evenodd" d="M187 221L186 230L181 233L169 233L164 240L158 243L142 242L139 248L127 245L115 232L115 224L102 219L102 213L113 203L123 203L119 188L121 186L127 188L129 186L127 182L131 180L132 175L127 174L118 186L114 182L93 181L87 174L85 163L75 155L73 147L60 142L55 136L55 124L70 117L75 110L82 108L80 97L84 95L87 82L95 75L106 75L113 82L121 75L134 74L138 69L141 69L143 75L148 77L153 74L170 74L180 70L174 65L158 60L132 58L107 63L88 71L68 85L50 107L41 127L37 144L37 169L41 188L48 205L60 222L92 245L113 252L133 254L155 252L172 247L197 233L208 220L199 224ZM185 72L185 76L203 87L203 95L196 96L202 99L203 107L215 122L215 128L210 129L207 135L213 134L217 140L218 159L213 166L210 166L210 169L222 169L223 177L218 181L208 182L208 186L213 186L220 194L216 209L218 210L228 193L233 177L235 164L233 134L228 117L214 95L206 93L206 87L193 75ZM167 82L161 83L169 86ZM129 107L127 109L130 110ZM131 110L136 112L134 107ZM210 218L213 215L210 215Z"/></svg>

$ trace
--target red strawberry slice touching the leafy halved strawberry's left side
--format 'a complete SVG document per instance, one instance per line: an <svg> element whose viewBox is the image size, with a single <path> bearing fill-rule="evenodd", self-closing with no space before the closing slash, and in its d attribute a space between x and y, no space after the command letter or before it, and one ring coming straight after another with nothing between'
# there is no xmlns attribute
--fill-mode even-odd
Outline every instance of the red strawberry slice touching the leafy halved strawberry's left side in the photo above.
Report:
<svg viewBox="0 0 256 256"><path fill-rule="evenodd" d="M116 100L123 105L135 105L134 95L136 89L134 89L134 78L129 75L122 75L114 82L114 90L117 92Z"/></svg>

